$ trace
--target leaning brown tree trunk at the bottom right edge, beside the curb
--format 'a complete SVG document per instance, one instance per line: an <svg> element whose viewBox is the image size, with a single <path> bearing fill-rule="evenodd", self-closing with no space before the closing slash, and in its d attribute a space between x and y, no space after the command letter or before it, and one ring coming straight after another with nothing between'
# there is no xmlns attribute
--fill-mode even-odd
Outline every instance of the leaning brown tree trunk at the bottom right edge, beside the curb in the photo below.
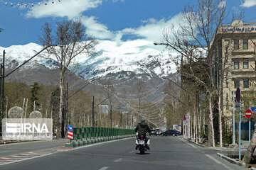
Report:
<svg viewBox="0 0 256 170"><path fill-rule="evenodd" d="M249 147L247 148L247 151L245 152L245 156L243 157L242 161L245 162L245 164L251 164L252 163L252 155L255 152L256 147L256 124L255 124L255 130L252 134L252 140L250 142Z"/></svg>

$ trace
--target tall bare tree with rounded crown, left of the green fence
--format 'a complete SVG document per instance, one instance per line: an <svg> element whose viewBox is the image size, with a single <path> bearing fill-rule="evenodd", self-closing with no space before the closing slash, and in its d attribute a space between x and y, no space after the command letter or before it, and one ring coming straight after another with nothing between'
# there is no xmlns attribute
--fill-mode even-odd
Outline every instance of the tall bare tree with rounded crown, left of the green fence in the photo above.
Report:
<svg viewBox="0 0 256 170"><path fill-rule="evenodd" d="M42 27L42 36L39 40L43 46L60 45L60 47L48 47L47 51L53 56L53 60L58 62L60 69L60 113L58 120L58 137L64 137L64 115L63 115L63 88L64 75L74 62L78 55L93 55L95 54L95 45L97 40L87 35L85 27L81 21L63 20L57 23L57 30L52 33L52 28L49 23L45 23Z"/></svg>

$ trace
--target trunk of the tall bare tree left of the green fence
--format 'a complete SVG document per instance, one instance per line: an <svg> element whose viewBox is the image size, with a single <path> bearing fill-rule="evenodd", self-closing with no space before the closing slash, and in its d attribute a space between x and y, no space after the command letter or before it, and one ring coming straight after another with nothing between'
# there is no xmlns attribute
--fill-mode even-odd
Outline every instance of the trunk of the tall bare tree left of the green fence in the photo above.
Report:
<svg viewBox="0 0 256 170"><path fill-rule="evenodd" d="M62 137L63 135L63 85L64 85L64 74L63 71L60 70L60 113L58 116L58 137Z"/></svg>

